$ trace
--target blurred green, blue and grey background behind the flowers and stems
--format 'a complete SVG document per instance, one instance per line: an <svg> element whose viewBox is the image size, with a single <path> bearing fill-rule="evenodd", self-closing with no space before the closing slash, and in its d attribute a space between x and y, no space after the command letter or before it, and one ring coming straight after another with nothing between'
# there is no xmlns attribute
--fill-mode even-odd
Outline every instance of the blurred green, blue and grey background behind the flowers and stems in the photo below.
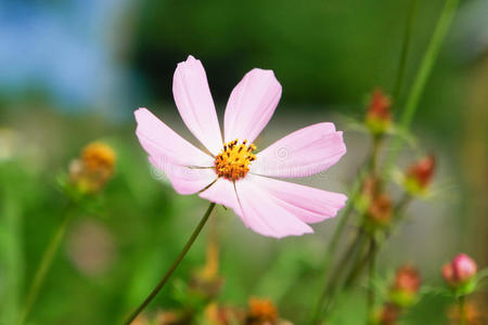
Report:
<svg viewBox="0 0 488 325"><path fill-rule="evenodd" d="M329 120L345 130L347 155L300 182L347 192L369 148L352 128L368 94L394 91L410 1L0 1L0 322L13 324L39 258L65 213L57 179L87 143L117 153L116 174L94 207L69 224L36 303L31 324L117 324L179 252L206 203L178 196L150 168L134 135L133 110L149 107L193 141L174 105L172 74L189 54L202 60L219 116L253 67L273 69L283 96L258 140ZM402 109L442 0L419 1ZM461 1L416 112L399 168L438 157L436 195L409 207L409 219L380 257L387 276L411 262L425 283L455 252L488 262L488 2ZM397 191L395 185L391 190ZM316 234L275 240L217 209L220 300L245 306L269 297L303 324L317 298L335 220ZM204 232L152 309L181 303L180 287L205 263ZM337 307L336 324L360 324L363 292ZM483 297L480 298L483 301ZM425 297L406 324L446 324L449 301ZM485 300L486 303L486 300ZM481 302L483 306L483 302ZM355 313L344 312L351 308Z"/></svg>

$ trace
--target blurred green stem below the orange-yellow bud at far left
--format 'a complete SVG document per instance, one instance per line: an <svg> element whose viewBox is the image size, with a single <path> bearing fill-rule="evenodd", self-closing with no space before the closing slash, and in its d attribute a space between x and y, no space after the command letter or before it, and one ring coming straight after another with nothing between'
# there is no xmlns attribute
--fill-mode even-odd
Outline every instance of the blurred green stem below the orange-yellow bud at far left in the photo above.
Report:
<svg viewBox="0 0 488 325"><path fill-rule="evenodd" d="M60 248L61 242L64 237L64 233L66 232L66 227L69 223L69 220L73 216L73 204L69 204L67 211L65 212L63 220L54 232L54 235L51 237L51 240L46 248L40 264L37 268L36 274L34 275L34 281L30 285L30 288L27 294L27 300L24 306L24 309L21 314L21 320L18 324L23 325L27 321L27 317L30 314L30 311L36 302L37 297L39 296L39 291L42 288L42 284L46 280L46 275L48 271L51 269L54 257Z"/></svg>

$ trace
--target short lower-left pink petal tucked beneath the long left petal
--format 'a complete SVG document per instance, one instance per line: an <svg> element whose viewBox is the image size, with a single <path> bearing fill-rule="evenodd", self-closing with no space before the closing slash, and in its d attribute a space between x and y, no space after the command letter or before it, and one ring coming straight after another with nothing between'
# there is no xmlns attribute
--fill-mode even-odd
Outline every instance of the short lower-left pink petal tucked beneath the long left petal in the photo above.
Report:
<svg viewBox="0 0 488 325"><path fill-rule="evenodd" d="M189 168L175 165L163 156L151 156L149 159L157 170L164 171L176 192L182 195L202 191L217 179L215 170L210 168Z"/></svg>

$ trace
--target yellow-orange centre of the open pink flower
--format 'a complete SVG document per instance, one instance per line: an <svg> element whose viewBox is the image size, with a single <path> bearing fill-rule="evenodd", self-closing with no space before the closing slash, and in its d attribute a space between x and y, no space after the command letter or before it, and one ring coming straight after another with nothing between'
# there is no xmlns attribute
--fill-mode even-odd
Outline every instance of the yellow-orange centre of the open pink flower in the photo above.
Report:
<svg viewBox="0 0 488 325"><path fill-rule="evenodd" d="M247 145L247 140L241 144L237 140L226 143L221 153L215 158L217 174L233 181L242 179L249 171L251 162L256 160L253 154L255 150L254 144Z"/></svg>

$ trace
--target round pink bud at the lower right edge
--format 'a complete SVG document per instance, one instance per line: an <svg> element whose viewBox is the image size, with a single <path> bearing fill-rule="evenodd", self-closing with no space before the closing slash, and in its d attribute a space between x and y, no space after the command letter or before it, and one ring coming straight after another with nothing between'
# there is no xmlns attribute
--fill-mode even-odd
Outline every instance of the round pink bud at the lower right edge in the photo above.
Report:
<svg viewBox="0 0 488 325"><path fill-rule="evenodd" d="M450 263L442 266L444 280L452 287L459 287L476 275L476 262L465 253L459 253Z"/></svg>

